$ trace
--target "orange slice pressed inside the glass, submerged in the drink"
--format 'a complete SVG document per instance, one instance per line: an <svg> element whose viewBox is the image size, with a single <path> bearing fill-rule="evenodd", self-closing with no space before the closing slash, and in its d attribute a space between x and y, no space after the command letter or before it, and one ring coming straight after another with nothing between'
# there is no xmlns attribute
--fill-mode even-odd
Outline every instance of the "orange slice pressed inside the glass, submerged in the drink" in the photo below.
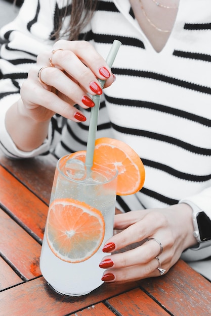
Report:
<svg viewBox="0 0 211 316"><path fill-rule="evenodd" d="M47 241L60 259L76 263L97 252L105 235L100 211L74 199L56 199L49 206Z"/></svg>

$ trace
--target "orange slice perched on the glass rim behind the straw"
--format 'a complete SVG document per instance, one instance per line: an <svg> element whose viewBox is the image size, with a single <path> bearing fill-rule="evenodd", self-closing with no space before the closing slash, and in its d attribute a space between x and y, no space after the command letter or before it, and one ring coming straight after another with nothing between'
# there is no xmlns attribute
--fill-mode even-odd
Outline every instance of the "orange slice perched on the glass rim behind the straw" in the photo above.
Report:
<svg viewBox="0 0 211 316"><path fill-rule="evenodd" d="M85 162L86 150L71 154L71 158ZM94 168L104 166L117 169L117 195L138 192L144 185L145 169L139 155L126 143L108 137L96 139Z"/></svg>

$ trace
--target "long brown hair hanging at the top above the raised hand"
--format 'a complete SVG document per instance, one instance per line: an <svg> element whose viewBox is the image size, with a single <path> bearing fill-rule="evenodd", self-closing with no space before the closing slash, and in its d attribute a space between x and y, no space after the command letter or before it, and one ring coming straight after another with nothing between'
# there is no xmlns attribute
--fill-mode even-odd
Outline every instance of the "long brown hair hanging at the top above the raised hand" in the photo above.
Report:
<svg viewBox="0 0 211 316"><path fill-rule="evenodd" d="M66 6L64 11L59 11L57 19L57 28L53 37L59 39L64 18L71 14L69 27L65 30L69 40L78 39L78 35L83 27L91 20L93 13L96 10L98 0L72 0L71 6Z"/></svg>

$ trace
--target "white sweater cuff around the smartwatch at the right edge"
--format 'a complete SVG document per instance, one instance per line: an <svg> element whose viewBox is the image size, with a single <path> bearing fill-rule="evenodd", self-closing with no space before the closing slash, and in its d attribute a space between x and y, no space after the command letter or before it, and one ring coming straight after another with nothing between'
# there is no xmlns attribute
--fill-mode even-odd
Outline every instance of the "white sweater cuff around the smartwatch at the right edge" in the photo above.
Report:
<svg viewBox="0 0 211 316"><path fill-rule="evenodd" d="M183 200L189 200L196 204L211 219L211 187L208 187L200 193L187 197ZM180 203L182 203L183 200L181 200ZM211 246L198 250L187 249L183 252L182 259L186 261L197 261L209 257L210 255Z"/></svg>

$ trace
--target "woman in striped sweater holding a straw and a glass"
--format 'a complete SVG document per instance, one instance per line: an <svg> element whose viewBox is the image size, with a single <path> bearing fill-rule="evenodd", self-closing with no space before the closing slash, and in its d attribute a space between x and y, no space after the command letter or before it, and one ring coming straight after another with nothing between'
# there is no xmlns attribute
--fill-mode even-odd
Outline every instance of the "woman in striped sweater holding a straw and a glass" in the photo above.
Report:
<svg viewBox="0 0 211 316"><path fill-rule="evenodd" d="M114 226L123 231L104 252L146 241L102 258L106 282L156 277L181 254L211 254L209 9L209 0L25 0L1 31L9 41L0 64L0 140L8 156L85 149L100 78L97 137L129 143L145 165L144 188L117 200L127 213ZM114 39L122 45L111 71L104 59ZM206 242L194 233L198 209L209 217Z"/></svg>

